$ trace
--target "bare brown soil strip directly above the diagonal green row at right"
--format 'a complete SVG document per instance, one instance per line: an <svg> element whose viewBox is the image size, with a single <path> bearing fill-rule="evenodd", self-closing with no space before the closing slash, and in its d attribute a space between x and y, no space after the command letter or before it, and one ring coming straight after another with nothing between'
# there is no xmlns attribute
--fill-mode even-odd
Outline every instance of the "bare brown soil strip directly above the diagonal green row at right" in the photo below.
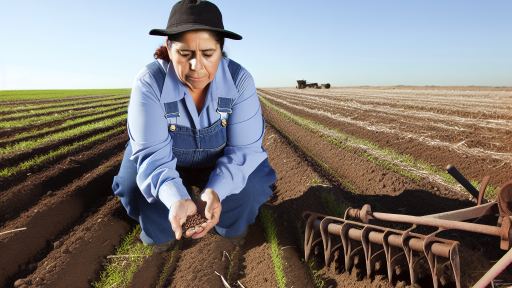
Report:
<svg viewBox="0 0 512 288"><path fill-rule="evenodd" d="M269 101L276 107L282 105L275 101ZM500 187L506 181L512 179L512 169L510 163L504 163L501 160L490 157L466 156L458 153L457 150L444 148L442 146L432 146L415 139L400 137L395 134L371 131L361 127L341 123L326 116L297 110L292 107L286 107L290 113L309 119L315 123L324 125L331 129L337 129L343 133L352 135L359 139L364 139L378 144L381 148L389 148L403 155L410 155L415 159L423 160L426 163L435 165L444 170L448 164L456 166L471 181L481 181L485 175L491 175L490 185ZM456 149L457 147L453 147Z"/></svg>

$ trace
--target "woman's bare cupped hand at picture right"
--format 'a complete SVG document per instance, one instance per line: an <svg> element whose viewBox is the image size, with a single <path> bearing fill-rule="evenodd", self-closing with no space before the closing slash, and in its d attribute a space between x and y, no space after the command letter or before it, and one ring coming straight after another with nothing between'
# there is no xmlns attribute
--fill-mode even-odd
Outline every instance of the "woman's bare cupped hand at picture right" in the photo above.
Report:
<svg viewBox="0 0 512 288"><path fill-rule="evenodd" d="M217 195L213 189L206 188L199 195L199 199L197 199L197 209L199 214L208 219L208 221L201 225L203 228L202 232L196 230L196 234L192 236L192 239L203 237L210 229L219 223L220 212L222 211L219 195Z"/></svg>

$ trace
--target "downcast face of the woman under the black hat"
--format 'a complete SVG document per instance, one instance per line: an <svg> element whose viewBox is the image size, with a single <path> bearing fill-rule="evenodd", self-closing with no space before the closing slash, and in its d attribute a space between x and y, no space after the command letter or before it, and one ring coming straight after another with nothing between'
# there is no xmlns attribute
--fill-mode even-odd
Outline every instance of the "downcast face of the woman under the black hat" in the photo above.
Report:
<svg viewBox="0 0 512 288"><path fill-rule="evenodd" d="M169 58L181 82L189 89L204 89L215 77L222 57L219 43L206 31L186 32L172 45L168 41Z"/></svg>

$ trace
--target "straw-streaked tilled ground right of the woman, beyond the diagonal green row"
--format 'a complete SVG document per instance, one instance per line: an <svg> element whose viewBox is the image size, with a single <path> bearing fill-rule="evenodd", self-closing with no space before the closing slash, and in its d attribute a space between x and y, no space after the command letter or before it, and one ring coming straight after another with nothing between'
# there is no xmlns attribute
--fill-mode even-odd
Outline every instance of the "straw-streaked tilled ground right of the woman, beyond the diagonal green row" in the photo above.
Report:
<svg viewBox="0 0 512 288"><path fill-rule="evenodd" d="M512 179L512 92L344 91L260 89L280 109L468 179Z"/></svg>

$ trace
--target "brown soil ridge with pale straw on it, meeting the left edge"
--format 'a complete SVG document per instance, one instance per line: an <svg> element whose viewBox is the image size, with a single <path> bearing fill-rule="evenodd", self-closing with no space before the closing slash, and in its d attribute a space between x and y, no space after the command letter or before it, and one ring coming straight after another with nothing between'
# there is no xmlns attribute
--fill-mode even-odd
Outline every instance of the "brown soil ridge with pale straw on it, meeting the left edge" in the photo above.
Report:
<svg viewBox="0 0 512 288"><path fill-rule="evenodd" d="M98 198L111 194L112 179L122 158L120 152L61 190L48 193L37 205L3 225L2 230L27 229L0 236L0 286L23 265L31 264L39 251L69 229Z"/></svg>

